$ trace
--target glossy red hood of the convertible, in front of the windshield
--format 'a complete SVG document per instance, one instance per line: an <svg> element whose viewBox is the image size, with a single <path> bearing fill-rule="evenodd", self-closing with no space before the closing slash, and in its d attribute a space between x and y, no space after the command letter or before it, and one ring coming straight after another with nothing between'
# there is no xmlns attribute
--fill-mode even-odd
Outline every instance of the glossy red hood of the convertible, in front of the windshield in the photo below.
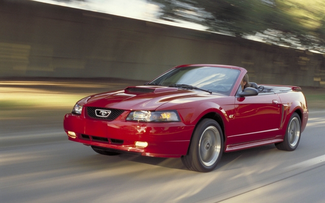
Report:
<svg viewBox="0 0 325 203"><path fill-rule="evenodd" d="M123 110L155 110L172 100L193 96L200 97L201 95L208 96L211 94L201 90L187 90L174 87L132 86L121 91L95 94L80 100L78 103L88 107Z"/></svg>

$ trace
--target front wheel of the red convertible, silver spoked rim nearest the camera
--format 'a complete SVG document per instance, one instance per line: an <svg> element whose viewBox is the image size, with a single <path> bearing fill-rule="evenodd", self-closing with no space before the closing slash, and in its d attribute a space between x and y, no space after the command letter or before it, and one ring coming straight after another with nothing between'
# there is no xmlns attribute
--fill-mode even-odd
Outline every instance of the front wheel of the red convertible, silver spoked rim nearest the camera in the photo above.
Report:
<svg viewBox="0 0 325 203"><path fill-rule="evenodd" d="M220 125L204 119L194 130L188 154L182 156L183 164L192 171L211 172L221 159L223 136Z"/></svg>

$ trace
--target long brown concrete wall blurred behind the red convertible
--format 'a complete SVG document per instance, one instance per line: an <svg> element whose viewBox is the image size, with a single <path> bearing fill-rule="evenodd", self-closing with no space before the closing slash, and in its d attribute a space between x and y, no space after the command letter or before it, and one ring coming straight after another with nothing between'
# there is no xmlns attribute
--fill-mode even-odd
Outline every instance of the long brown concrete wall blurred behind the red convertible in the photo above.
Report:
<svg viewBox="0 0 325 203"><path fill-rule="evenodd" d="M0 1L0 77L150 80L179 64L248 70L264 84L325 86L321 54L30 1Z"/></svg>

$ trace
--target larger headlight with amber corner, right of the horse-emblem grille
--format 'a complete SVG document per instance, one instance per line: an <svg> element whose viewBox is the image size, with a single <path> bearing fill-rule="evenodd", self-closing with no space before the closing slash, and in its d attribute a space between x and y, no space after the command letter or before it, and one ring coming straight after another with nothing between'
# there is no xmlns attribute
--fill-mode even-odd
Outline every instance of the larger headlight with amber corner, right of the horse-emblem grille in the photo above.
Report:
<svg viewBox="0 0 325 203"><path fill-rule="evenodd" d="M177 111L132 111L128 114L126 120L143 122L180 122Z"/></svg>

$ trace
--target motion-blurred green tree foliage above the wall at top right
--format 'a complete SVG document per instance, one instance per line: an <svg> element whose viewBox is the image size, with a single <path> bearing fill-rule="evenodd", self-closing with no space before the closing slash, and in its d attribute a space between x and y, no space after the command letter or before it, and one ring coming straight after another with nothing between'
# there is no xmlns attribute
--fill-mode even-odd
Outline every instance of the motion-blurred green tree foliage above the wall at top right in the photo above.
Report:
<svg viewBox="0 0 325 203"><path fill-rule="evenodd" d="M148 0L159 18L190 21L210 31L256 36L273 44L325 51L323 0Z"/></svg>

